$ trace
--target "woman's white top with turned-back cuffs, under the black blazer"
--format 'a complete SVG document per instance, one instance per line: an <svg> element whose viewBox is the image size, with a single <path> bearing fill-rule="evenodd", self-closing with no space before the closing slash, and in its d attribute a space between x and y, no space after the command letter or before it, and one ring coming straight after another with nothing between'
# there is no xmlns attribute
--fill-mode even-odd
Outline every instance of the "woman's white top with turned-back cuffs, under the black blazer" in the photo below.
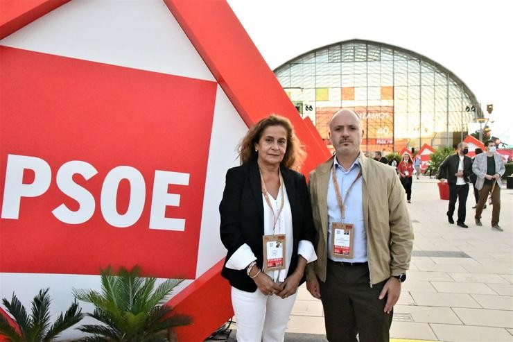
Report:
<svg viewBox="0 0 513 342"><path fill-rule="evenodd" d="M279 215L278 221L276 223L276 228L273 230L272 224L274 223L275 216L279 212L279 206L281 205L281 189L278 191L277 198L273 198L270 194L269 200L272 205L272 210L274 210L275 214L272 214L271 208L266 202L266 198L262 194L262 202L263 202L263 234L272 235L272 234L285 234L285 266L286 268L281 271L269 271L267 275L269 275L275 282L283 282L288 273L288 267L290 266L290 260L292 259L292 251L293 251L293 230L292 230L292 212L290 210L290 203L288 202L287 189L284 185L283 187L283 196L284 196L284 208L281 210L281 214ZM306 262L313 262L317 260L317 255L315 254L315 249L313 248L313 244L308 240L299 241L299 246L297 249L297 254L302 255ZM244 243L241 247L239 247L235 253L230 257L226 263L227 268L231 268L232 270L243 270L250 264L250 262L256 260L257 257L254 256L250 246L247 246Z"/></svg>

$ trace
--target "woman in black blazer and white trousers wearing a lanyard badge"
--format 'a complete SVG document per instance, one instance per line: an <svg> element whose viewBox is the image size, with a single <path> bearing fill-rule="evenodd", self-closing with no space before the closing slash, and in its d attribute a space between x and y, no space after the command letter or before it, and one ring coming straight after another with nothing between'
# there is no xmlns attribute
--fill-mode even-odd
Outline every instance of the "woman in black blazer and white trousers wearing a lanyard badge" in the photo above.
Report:
<svg viewBox="0 0 513 342"><path fill-rule="evenodd" d="M270 115L247 132L239 155L219 205L221 274L232 285L237 341L283 341L304 268L317 259L306 181L291 170L305 153L290 121Z"/></svg>

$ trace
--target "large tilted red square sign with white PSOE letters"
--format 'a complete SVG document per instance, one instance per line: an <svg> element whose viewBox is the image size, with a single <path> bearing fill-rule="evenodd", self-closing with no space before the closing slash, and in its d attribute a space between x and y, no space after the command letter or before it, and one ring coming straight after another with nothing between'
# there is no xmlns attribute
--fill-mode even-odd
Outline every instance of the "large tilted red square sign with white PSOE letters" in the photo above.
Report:
<svg viewBox="0 0 513 342"><path fill-rule="evenodd" d="M194 279L217 84L5 46L0 62L0 272Z"/></svg>

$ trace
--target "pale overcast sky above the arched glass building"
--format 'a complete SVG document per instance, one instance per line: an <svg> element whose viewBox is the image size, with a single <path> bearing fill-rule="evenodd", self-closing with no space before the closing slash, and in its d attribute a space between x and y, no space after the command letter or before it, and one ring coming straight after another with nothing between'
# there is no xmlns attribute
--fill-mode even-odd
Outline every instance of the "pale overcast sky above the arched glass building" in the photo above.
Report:
<svg viewBox="0 0 513 342"><path fill-rule="evenodd" d="M425 55L467 84L489 118L492 135L513 144L513 3L509 1L228 3L271 69L307 51L351 39L383 42ZM487 103L494 105L490 116Z"/></svg>

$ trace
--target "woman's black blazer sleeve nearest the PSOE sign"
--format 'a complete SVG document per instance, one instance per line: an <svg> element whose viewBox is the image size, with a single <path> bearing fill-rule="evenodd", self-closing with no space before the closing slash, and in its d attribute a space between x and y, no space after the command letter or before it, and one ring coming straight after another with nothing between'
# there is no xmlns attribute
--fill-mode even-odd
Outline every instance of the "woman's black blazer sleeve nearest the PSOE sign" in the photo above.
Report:
<svg viewBox="0 0 513 342"><path fill-rule="evenodd" d="M234 168L227 171L225 191L219 205L221 221L219 230L228 255L232 255L245 243L239 219L243 182L244 177L240 169Z"/></svg>

